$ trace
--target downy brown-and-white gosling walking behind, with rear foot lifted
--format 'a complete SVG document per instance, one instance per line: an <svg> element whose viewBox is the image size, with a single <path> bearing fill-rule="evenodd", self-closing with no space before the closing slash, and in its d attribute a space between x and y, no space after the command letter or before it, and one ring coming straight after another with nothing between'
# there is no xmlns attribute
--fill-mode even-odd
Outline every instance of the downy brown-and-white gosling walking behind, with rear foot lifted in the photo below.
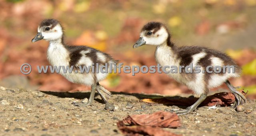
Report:
<svg viewBox="0 0 256 136"><path fill-rule="evenodd" d="M156 46L156 62L162 67L176 66L179 69L180 66L186 67L193 64L192 69L195 70L195 66L200 66L201 72L199 73L188 73L185 72L184 68L178 73L168 72L168 76L179 83L185 84L194 93L200 95L200 98L192 106L186 108L186 110L175 111L178 115L185 115L194 111L205 100L210 88L220 86L223 83L228 86L236 98L232 106L233 108L246 102L244 95L236 90L236 87L233 87L228 81L229 78L238 77L241 72L239 66L228 55L200 46L178 47L171 41L171 35L166 25L161 22L149 22L144 25L140 32L140 38L133 45L133 48L144 44ZM234 72L232 72L232 69L230 73L227 72L228 70L226 70L226 73L202 72L202 70L206 70L207 66L221 66L222 68L223 66L234 66ZM170 69L166 68L165 70L168 71Z"/></svg>

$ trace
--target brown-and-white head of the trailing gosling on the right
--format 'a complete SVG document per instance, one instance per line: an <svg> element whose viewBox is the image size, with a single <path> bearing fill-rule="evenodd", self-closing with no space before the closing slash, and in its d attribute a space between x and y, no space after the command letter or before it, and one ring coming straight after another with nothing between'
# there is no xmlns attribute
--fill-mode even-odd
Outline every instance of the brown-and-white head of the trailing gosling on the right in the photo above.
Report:
<svg viewBox="0 0 256 136"><path fill-rule="evenodd" d="M144 25L140 32L139 40L133 45L137 48L144 44L162 45L170 39L170 34L165 24L160 22L149 22Z"/></svg>

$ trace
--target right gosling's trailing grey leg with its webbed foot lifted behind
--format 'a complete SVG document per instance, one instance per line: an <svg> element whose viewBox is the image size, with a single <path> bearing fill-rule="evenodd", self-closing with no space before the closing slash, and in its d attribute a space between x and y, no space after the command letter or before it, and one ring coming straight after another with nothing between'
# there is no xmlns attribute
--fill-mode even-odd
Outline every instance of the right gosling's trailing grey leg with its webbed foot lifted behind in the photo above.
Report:
<svg viewBox="0 0 256 136"><path fill-rule="evenodd" d="M232 94L234 94L235 99L236 99L234 105L232 106L232 108L236 108L241 103L246 102L246 98L244 97L244 95L241 92L239 92L238 90L236 90L236 88L239 88L239 87L232 86L228 80L225 82L225 84L230 89L230 92Z"/></svg>

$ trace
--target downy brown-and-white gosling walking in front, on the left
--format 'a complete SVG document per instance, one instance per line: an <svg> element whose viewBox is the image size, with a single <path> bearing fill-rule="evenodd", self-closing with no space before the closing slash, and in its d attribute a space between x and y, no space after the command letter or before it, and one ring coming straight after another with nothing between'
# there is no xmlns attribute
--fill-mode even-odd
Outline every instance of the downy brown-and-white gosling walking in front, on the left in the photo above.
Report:
<svg viewBox="0 0 256 136"><path fill-rule="evenodd" d="M110 98L110 92L106 90L103 86L99 84L99 81L104 80L109 72L107 73L96 73L92 72L92 66L99 66L117 63L109 54L90 48L88 46L73 46L68 45L64 42L64 32L63 28L58 20L46 19L43 20L38 26L38 34L32 39L32 42L38 40L49 41L49 46L47 50L47 59L52 66L73 66L72 73L60 70L62 76L64 76L68 81L76 84L83 84L91 86L91 94L87 103L73 102L75 106L90 106L94 100L95 91L101 96L102 100L107 103L108 98ZM81 73L78 67L86 66L89 68L89 73ZM78 72L75 72L75 68ZM96 70L96 68L95 68ZM108 69L110 70L110 69ZM83 102L83 101L82 101Z"/></svg>

